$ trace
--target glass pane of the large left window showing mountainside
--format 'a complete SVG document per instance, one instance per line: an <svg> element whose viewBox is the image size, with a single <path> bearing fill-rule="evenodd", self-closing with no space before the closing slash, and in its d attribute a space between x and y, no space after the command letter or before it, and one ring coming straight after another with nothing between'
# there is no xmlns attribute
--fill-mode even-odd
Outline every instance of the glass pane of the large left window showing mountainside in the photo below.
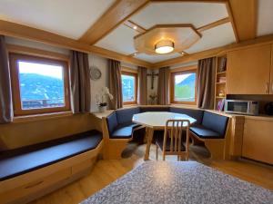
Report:
<svg viewBox="0 0 273 204"><path fill-rule="evenodd" d="M62 66L19 61L18 73L23 110L65 106Z"/></svg>

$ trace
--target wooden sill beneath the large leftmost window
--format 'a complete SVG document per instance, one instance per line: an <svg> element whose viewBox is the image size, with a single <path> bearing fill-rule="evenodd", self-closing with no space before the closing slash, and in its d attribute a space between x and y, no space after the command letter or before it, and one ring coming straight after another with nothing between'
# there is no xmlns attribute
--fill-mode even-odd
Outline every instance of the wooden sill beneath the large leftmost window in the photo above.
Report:
<svg viewBox="0 0 273 204"><path fill-rule="evenodd" d="M44 114L15 116L13 122L42 121L42 120L55 119L55 118L71 116L71 115L73 115L72 112L51 112L51 113L44 113Z"/></svg>

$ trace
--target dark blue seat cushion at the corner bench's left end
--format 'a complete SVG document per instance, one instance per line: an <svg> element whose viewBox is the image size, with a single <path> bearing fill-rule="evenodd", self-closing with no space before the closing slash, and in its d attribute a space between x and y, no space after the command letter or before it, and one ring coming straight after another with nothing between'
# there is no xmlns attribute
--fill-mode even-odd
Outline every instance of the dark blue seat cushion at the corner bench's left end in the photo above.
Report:
<svg viewBox="0 0 273 204"><path fill-rule="evenodd" d="M136 127L140 125L133 122L118 125L110 135L112 139L128 139L132 137L132 133Z"/></svg>

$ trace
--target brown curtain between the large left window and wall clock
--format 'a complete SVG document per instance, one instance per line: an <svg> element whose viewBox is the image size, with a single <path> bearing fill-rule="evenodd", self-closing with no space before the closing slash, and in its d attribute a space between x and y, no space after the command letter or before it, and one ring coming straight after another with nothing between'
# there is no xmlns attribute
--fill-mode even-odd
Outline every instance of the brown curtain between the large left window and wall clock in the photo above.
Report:
<svg viewBox="0 0 273 204"><path fill-rule="evenodd" d="M72 111L74 113L90 112L91 85L87 53L71 52L70 83Z"/></svg>

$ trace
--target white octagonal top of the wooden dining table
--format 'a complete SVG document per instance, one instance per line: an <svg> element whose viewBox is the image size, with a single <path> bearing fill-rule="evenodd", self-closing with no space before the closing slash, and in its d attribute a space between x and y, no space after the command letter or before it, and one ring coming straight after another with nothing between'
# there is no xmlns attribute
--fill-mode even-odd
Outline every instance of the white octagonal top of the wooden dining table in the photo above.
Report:
<svg viewBox="0 0 273 204"><path fill-rule="evenodd" d="M167 120L188 120L191 124L197 121L186 114L180 114L175 112L137 113L134 114L132 121L150 128L164 129Z"/></svg>

